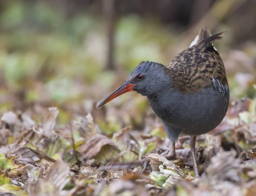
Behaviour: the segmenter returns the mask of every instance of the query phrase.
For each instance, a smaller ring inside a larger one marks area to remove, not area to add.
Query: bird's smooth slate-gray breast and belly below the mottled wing
[[[168,126],[189,134],[201,135],[221,123],[227,112],[228,86],[215,80],[215,85],[194,94],[166,90],[150,100],[154,112]]]

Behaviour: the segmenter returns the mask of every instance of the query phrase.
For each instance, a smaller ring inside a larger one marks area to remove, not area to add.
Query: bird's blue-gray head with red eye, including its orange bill
[[[134,68],[124,84],[116,89],[111,95],[106,97],[98,107],[111,101],[113,98],[129,91],[136,91],[143,96],[152,96],[157,94],[166,85],[170,84],[166,66],[160,63],[142,61]]]

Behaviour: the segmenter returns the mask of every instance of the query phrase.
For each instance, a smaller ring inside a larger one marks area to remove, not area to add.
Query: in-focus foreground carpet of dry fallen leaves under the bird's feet
[[[197,139],[195,179],[189,137],[177,158],[163,156],[163,127],[125,127],[105,135],[89,113],[58,128],[57,108],[36,123],[25,113],[0,120],[0,192],[15,195],[246,195],[256,194],[256,99],[230,104],[215,130]],[[150,164],[147,166],[147,161]]]

